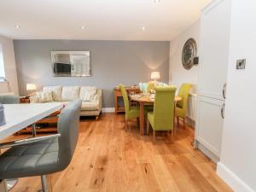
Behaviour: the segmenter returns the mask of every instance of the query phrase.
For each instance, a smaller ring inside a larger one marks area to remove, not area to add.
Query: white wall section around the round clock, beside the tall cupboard
[[[199,49],[200,20],[189,26],[188,29],[180,33],[176,38],[173,38],[170,43],[169,82],[170,84],[176,84],[177,87],[180,87],[183,83],[198,83],[198,67],[194,66],[190,70],[186,70],[182,64],[183,45],[189,38],[195,38],[197,48]]]

